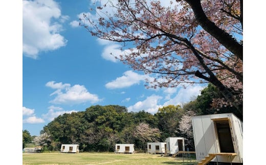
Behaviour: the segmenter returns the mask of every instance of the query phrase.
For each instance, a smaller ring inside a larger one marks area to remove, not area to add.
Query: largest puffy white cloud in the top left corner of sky
[[[52,51],[66,45],[59,34],[68,16],[61,15],[60,7],[53,0],[23,1],[23,53],[36,59],[40,51]]]

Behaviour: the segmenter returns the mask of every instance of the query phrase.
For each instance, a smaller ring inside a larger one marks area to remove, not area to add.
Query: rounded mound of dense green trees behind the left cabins
[[[85,111],[59,115],[43,128],[43,132],[50,132],[53,139],[51,144],[57,147],[78,143],[82,151],[114,151],[117,143],[139,143],[136,147],[143,148],[143,138],[136,134],[140,131],[140,123],[157,130],[158,119],[144,110],[127,112],[124,106],[96,105]],[[150,136],[154,140],[155,136]],[[160,138],[158,134],[156,137]]]

